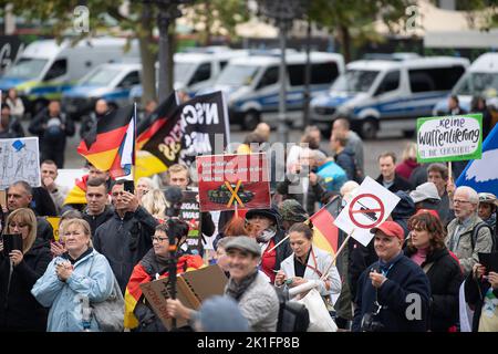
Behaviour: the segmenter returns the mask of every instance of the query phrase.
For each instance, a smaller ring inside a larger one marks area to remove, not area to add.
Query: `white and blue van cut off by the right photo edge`
[[[464,76],[453,87],[452,95],[458,96],[459,105],[469,112],[474,96],[483,96],[498,107],[498,53],[485,53],[477,58]],[[437,102],[434,115],[448,112],[448,97]]]

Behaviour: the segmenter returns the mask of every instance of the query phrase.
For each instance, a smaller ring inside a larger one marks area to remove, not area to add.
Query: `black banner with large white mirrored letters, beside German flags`
[[[190,166],[196,156],[221,152],[229,143],[228,111],[221,92],[196,96],[179,105],[142,147],[166,167]],[[216,144],[219,139],[218,144]]]

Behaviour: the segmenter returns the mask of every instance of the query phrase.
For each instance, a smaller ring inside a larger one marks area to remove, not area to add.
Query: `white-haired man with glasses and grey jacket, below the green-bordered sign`
[[[491,252],[491,232],[489,228],[481,227],[477,236],[474,236],[474,229],[483,220],[477,216],[479,196],[473,188],[458,187],[453,197],[453,205],[456,218],[448,225],[446,246],[458,258],[466,277],[473,270],[474,264],[479,261],[479,252]]]

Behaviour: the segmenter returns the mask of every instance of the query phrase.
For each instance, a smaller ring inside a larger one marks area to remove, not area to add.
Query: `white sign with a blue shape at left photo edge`
[[[18,180],[40,187],[38,137],[0,139],[0,189]]]

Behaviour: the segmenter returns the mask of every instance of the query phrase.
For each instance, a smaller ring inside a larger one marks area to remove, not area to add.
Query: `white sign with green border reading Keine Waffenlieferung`
[[[483,114],[417,119],[417,162],[479,159],[483,155]]]

